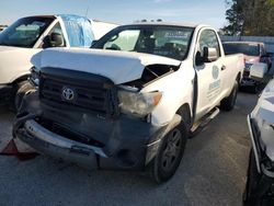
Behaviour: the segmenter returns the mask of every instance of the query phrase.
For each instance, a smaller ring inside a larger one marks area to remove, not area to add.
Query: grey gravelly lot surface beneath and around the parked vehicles
[[[190,139],[174,178],[156,185],[139,173],[88,171],[48,157],[0,157],[0,205],[241,205],[250,149],[247,114],[258,96],[239,93]],[[11,138],[13,115],[0,112],[0,148]]]

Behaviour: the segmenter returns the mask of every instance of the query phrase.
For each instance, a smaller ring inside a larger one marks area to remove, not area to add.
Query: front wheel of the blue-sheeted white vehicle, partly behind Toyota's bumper
[[[18,84],[18,91],[14,96],[14,110],[18,112],[20,110],[21,103],[24,95],[33,90],[34,87],[28,81],[22,81]]]

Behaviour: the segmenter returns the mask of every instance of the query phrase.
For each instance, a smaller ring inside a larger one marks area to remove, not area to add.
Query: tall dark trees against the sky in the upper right
[[[274,0],[226,0],[225,35],[274,36]]]

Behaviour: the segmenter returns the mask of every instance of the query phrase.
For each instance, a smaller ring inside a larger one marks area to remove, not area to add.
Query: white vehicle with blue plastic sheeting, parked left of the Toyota
[[[92,41],[114,27],[70,14],[18,20],[0,34],[0,101],[13,100],[20,88],[27,87],[24,83],[32,68],[31,58],[43,48],[90,47]]]

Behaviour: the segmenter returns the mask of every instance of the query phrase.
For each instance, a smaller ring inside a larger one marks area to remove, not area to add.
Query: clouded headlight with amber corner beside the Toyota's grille
[[[125,114],[144,117],[151,113],[159,104],[162,92],[139,93],[133,91],[118,91],[119,107]]]

